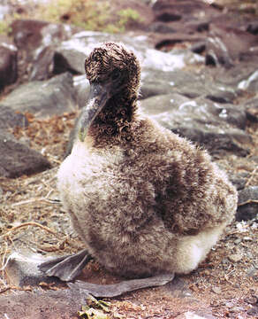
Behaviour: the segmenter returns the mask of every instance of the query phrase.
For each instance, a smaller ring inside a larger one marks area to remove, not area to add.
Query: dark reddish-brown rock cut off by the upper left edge
[[[17,48],[11,40],[0,36],[0,90],[17,80]]]

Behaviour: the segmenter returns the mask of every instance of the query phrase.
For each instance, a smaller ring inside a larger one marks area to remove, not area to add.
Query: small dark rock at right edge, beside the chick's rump
[[[237,221],[248,221],[258,214],[258,186],[249,186],[239,191]]]

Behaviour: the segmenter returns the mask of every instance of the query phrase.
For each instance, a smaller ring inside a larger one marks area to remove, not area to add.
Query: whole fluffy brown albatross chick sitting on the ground
[[[231,222],[237,191],[207,152],[138,112],[132,51],[104,43],[85,67],[89,102],[57,180],[86,250],[42,270],[72,280],[88,252],[112,273],[145,278],[137,288],[191,272]]]

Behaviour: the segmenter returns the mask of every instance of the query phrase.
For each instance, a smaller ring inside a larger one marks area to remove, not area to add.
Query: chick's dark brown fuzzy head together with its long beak
[[[80,140],[109,101],[122,101],[130,105],[138,97],[140,87],[140,64],[133,51],[120,43],[104,43],[90,53],[85,61],[87,80],[90,83],[89,102],[80,117]],[[121,104],[121,103],[120,103]],[[110,104],[111,105],[111,104]],[[118,113],[116,103],[109,112]],[[130,110],[123,111],[130,113]],[[128,114],[127,114],[128,115]],[[118,114],[114,118],[118,118]]]

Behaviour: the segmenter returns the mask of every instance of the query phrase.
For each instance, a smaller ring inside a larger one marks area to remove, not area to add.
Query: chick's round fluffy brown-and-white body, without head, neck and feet
[[[126,138],[102,143],[97,128],[74,143],[57,176],[88,252],[126,277],[197,268],[236,210],[227,176],[207,152],[137,112]]]

